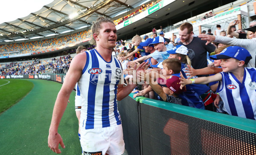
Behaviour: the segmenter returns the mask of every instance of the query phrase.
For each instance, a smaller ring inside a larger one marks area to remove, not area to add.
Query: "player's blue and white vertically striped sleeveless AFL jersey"
[[[95,49],[86,51],[86,56],[78,82],[82,96],[80,127],[94,129],[119,125],[116,94],[122,65],[113,56],[106,62]]]

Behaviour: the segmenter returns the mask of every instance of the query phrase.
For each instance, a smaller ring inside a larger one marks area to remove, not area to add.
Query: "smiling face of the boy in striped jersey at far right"
[[[238,68],[239,61],[234,58],[221,59],[221,68],[224,72],[233,72]]]

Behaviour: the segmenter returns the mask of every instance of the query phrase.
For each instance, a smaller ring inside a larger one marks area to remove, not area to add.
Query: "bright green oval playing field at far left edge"
[[[33,87],[33,83],[26,80],[0,79],[0,114],[20,101]]]

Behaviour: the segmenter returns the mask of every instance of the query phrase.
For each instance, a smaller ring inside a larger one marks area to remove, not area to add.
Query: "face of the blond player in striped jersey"
[[[97,46],[112,49],[116,45],[116,27],[113,23],[101,23],[101,29],[96,37]]]

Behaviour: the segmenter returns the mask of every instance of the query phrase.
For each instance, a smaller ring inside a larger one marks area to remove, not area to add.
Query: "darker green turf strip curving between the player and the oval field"
[[[22,81],[32,82],[34,88],[17,104],[0,115],[0,154],[55,155],[48,148],[47,138],[52,110],[61,84],[37,79]],[[15,85],[9,84],[5,86],[17,90]],[[58,130],[66,146],[65,149],[62,149],[59,145],[63,155],[81,155],[74,100],[75,92],[72,92],[70,103]]]

